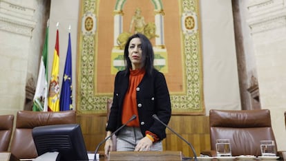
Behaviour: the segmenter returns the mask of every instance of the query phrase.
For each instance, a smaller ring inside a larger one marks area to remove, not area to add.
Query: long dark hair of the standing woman
[[[143,67],[146,71],[146,74],[151,74],[154,68],[154,51],[153,51],[153,46],[149,39],[144,35],[144,34],[133,34],[128,38],[126,41],[126,45],[124,48],[124,60],[126,62],[126,73],[129,72],[129,69],[132,68],[131,61],[128,57],[128,47],[130,44],[130,41],[134,38],[139,38],[141,41],[141,47],[142,47],[142,60],[143,60]]]

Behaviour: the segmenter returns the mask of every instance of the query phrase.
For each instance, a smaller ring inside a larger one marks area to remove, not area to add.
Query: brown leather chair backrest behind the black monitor
[[[37,158],[32,129],[44,125],[75,124],[75,111],[18,111],[10,151],[19,159]]]

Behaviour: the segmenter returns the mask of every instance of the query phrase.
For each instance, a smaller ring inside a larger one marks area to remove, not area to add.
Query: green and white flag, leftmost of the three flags
[[[39,75],[37,87],[34,96],[32,111],[48,111],[48,26],[46,29],[46,37],[44,48],[41,52],[41,63],[39,66]]]

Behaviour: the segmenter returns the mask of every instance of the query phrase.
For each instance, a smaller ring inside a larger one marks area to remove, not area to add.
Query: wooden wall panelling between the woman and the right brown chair
[[[190,142],[197,155],[200,155],[200,151],[211,149],[208,116],[172,116],[168,126]],[[184,156],[193,156],[191,147],[186,142],[169,129],[166,129],[166,133],[166,150],[182,151]]]

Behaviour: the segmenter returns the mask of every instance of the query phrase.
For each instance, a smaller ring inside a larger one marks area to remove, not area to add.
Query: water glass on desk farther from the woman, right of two
[[[260,140],[260,150],[263,156],[276,156],[274,140]]]

